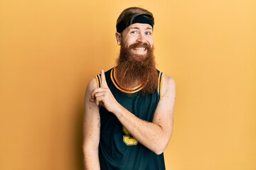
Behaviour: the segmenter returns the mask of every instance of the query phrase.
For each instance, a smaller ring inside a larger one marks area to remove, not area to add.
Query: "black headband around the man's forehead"
[[[134,23],[147,23],[152,28],[154,28],[153,18],[151,18],[151,16],[149,16],[149,15],[142,14],[142,15],[136,16],[133,20],[132,20],[132,18],[130,18],[129,21],[127,21],[127,22],[121,21],[120,23],[118,23],[117,24],[117,33],[122,33],[122,31],[125,28],[131,26]]]

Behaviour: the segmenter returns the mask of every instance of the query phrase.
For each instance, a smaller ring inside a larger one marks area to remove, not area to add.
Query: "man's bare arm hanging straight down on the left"
[[[83,154],[85,169],[100,169],[98,147],[100,142],[99,107],[90,102],[90,94],[97,87],[95,79],[87,86],[85,93],[85,113],[83,120]]]

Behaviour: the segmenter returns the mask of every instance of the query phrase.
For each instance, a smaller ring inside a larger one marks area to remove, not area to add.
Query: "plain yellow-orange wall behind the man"
[[[129,6],[156,18],[177,86],[166,169],[256,169],[255,0],[1,0],[0,169],[82,169],[83,96]]]

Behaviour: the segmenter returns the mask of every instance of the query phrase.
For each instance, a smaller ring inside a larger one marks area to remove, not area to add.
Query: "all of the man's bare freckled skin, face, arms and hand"
[[[134,42],[145,42],[153,45],[152,35],[145,34],[151,26],[136,23],[125,29],[122,33],[116,33],[117,42],[131,45]],[[134,26],[136,26],[134,28]],[[134,30],[129,30],[132,28]],[[143,50],[133,50],[134,53],[143,53]],[[145,51],[144,51],[145,52]],[[156,154],[161,154],[166,149],[173,130],[174,101],[176,96],[175,82],[166,74],[163,75],[163,95],[154,113],[151,123],[137,118],[133,113],[122,107],[112,95],[105,80],[105,73],[101,72],[102,87],[97,88],[97,82],[92,79],[85,93],[85,118],[84,118],[84,142],[83,152],[85,157],[85,169],[100,169],[98,147],[100,142],[100,111],[102,104],[107,111],[113,113],[119,122],[127,128],[133,137],[144,147]]]

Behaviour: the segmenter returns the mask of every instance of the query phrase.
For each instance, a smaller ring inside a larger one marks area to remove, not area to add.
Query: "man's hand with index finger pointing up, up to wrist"
[[[105,79],[105,72],[101,70],[101,87],[95,88],[92,91],[90,101],[95,102],[97,106],[104,106],[107,111],[114,112],[118,104],[113,94],[110,91],[110,88],[107,86],[107,81]]]

